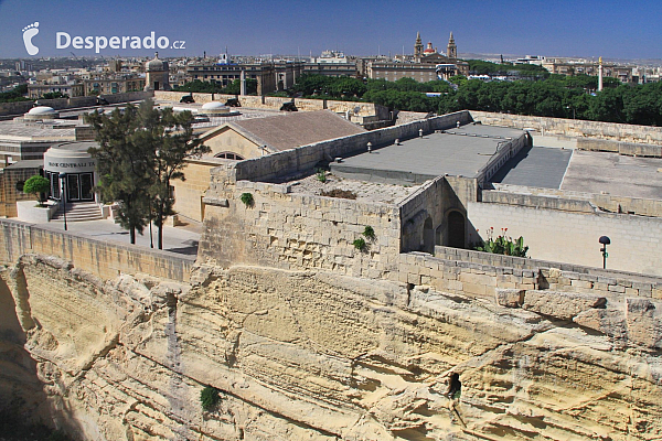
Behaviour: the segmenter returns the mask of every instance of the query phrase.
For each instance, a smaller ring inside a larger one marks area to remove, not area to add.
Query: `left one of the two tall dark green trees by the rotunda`
[[[97,160],[97,190],[104,202],[118,203],[119,224],[129,230],[131,244],[136,244],[136,230],[142,234],[150,215],[150,155],[148,146],[136,142],[136,133],[141,131],[137,114],[129,105],[109,117],[97,111],[87,117],[99,142],[98,148],[89,149]]]

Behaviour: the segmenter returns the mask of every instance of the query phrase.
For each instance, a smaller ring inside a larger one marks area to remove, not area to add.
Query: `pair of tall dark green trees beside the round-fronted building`
[[[98,148],[89,149],[97,159],[103,202],[118,202],[119,223],[136,243],[149,222],[158,228],[158,247],[163,248],[163,224],[174,214],[171,182],[184,180],[185,160],[210,151],[193,133],[193,115],[159,110],[151,100],[139,107],[128,105],[107,115],[87,117]]]

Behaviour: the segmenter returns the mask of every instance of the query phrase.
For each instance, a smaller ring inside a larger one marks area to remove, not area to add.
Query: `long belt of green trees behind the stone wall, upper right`
[[[605,78],[605,89],[596,93],[598,78],[588,75],[551,75],[541,66],[469,61],[476,74],[519,74],[514,82],[482,82],[452,77],[450,83],[417,83],[302,75],[287,92],[290,96],[376,103],[392,110],[436,112],[469,109],[594,121],[662,126],[662,83],[624,85]],[[437,93],[428,97],[424,93]]]

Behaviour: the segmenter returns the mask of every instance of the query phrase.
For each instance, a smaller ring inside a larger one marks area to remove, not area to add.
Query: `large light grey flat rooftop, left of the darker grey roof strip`
[[[444,174],[476,176],[496,152],[500,142],[516,139],[524,132],[504,127],[466,125],[445,133],[405,140],[332,163],[331,170],[345,176],[375,180],[399,179],[421,182]],[[409,176],[409,179],[407,179]]]

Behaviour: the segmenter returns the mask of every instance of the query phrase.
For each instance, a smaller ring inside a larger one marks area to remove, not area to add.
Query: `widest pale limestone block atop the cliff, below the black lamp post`
[[[560,320],[572,320],[591,308],[602,308],[607,303],[604,297],[557,291],[530,290],[524,294],[522,308]]]

